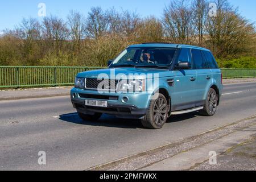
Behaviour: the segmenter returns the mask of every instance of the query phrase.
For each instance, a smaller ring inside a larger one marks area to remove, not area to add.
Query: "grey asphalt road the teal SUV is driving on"
[[[225,85],[223,93],[213,117],[177,115],[160,130],[109,115],[84,123],[67,96],[0,101],[0,170],[84,170],[256,114],[256,82]]]

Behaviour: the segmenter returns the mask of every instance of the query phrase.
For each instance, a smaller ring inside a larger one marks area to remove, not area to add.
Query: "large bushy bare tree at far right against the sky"
[[[228,1],[217,0],[217,16],[209,17],[207,31],[210,48],[217,57],[249,51],[255,36],[253,24],[243,18]]]

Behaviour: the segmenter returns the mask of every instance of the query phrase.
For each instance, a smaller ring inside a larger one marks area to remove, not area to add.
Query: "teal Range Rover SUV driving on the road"
[[[105,113],[139,119],[146,128],[160,129],[171,115],[216,113],[222,75],[208,49],[137,44],[108,64],[108,69],[76,77],[71,101],[84,121],[97,121]]]

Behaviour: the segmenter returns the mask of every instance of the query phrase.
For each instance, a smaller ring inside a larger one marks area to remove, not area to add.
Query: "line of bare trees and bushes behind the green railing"
[[[254,24],[227,0],[214,2],[212,16],[208,0],[176,0],[161,18],[92,7],[87,15],[70,11],[65,20],[23,19],[3,31],[0,65],[106,66],[130,44],[168,42],[209,48],[221,67],[256,68]]]

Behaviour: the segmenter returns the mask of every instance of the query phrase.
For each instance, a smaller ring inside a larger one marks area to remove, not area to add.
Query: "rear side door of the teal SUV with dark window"
[[[204,104],[205,93],[212,82],[212,71],[209,69],[200,49],[192,49],[192,59],[196,68],[196,106]]]

